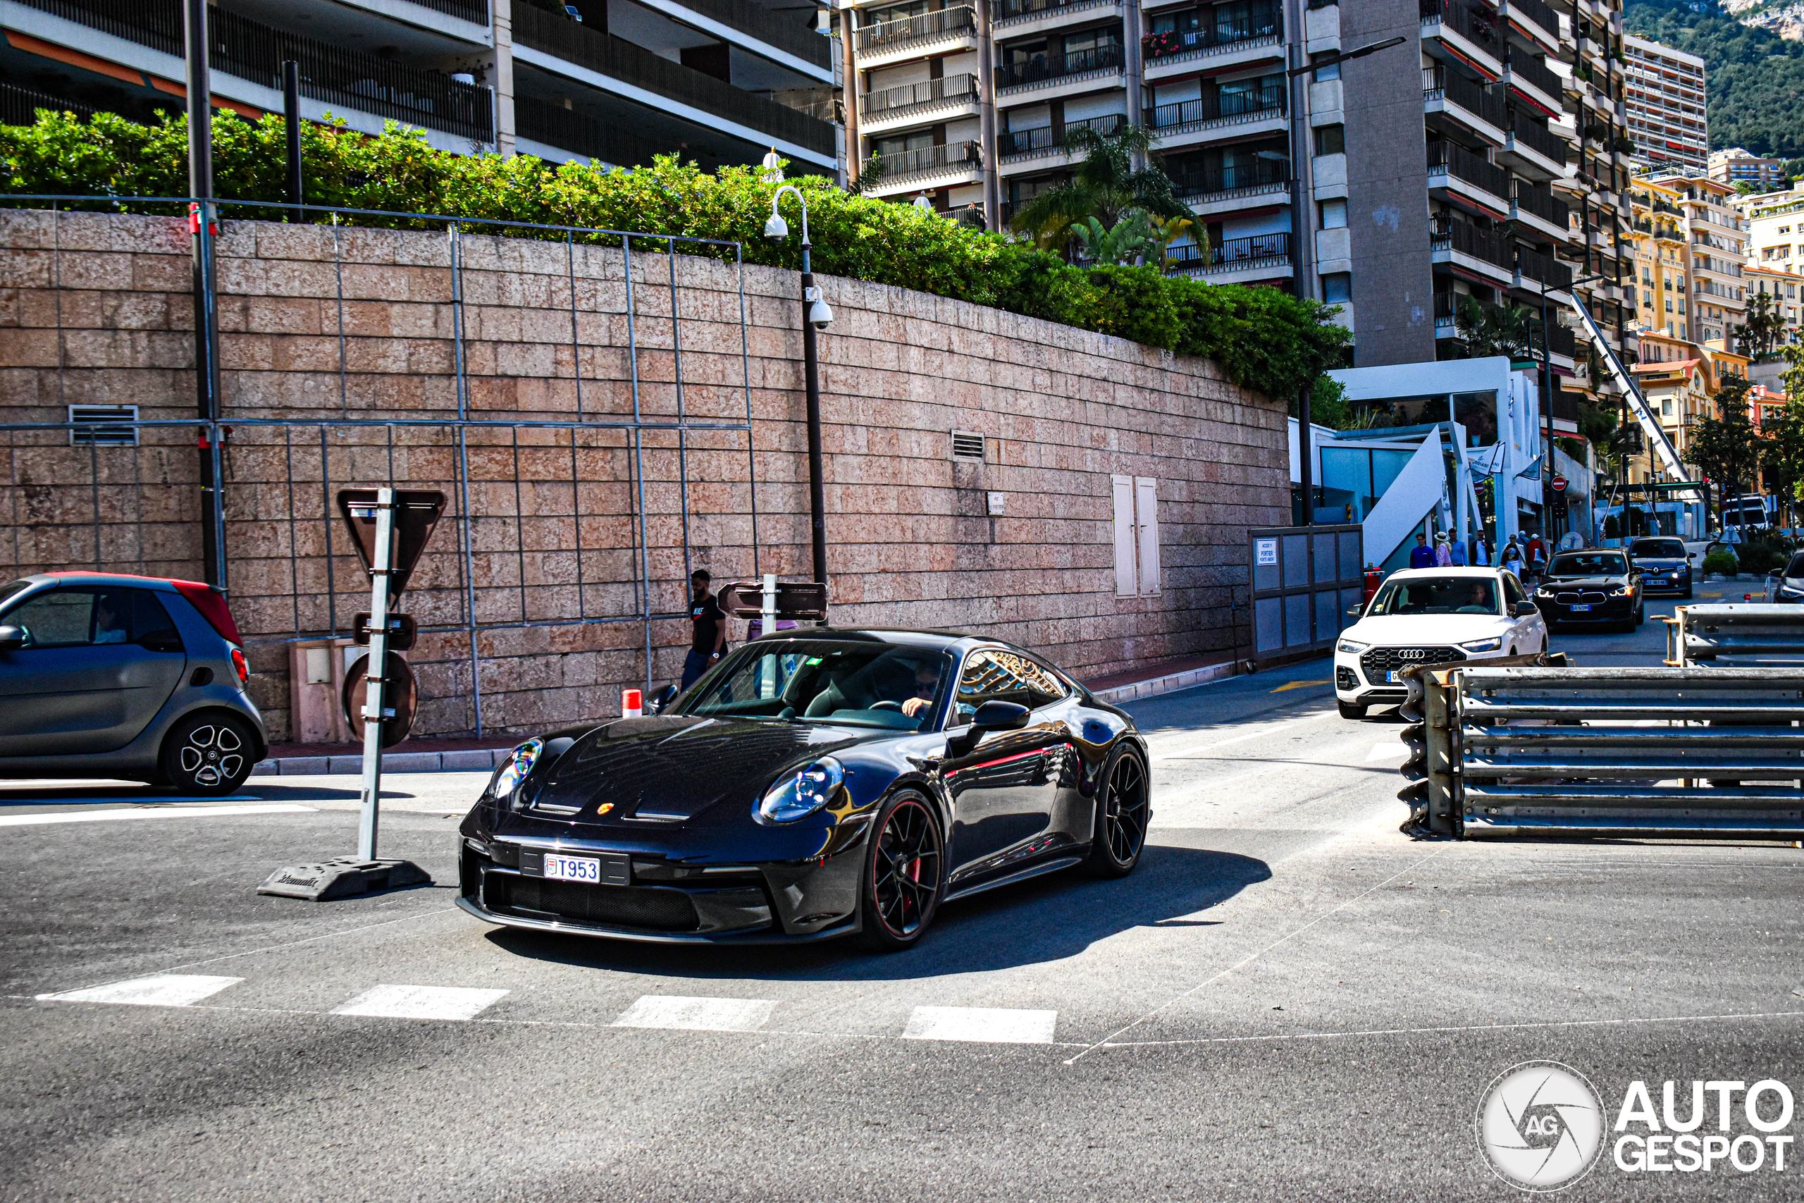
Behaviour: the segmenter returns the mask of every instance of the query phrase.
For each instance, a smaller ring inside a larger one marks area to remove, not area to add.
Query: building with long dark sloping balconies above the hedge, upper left
[[[180,108],[182,0],[0,0],[5,119],[34,105]],[[354,130],[400,121],[442,150],[713,168],[767,150],[833,173],[837,60],[814,0],[222,0],[213,99]]]

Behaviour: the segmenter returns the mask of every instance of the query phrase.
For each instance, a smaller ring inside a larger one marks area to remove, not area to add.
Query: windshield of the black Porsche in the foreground
[[[951,675],[951,657],[936,647],[758,640],[696,682],[671,712],[929,730]]]

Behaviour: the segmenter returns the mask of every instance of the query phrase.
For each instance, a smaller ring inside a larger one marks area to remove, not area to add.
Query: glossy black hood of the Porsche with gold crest
[[[895,734],[682,714],[622,718],[570,745],[547,770],[532,806],[574,808],[570,819],[584,822],[725,822],[747,817],[785,770]],[[595,813],[601,804],[604,815]]]

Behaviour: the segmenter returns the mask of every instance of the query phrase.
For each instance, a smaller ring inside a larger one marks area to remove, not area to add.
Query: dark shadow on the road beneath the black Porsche
[[[810,945],[648,945],[494,929],[489,941],[516,956],[613,972],[696,979],[897,981],[1016,969],[1075,956],[1133,927],[1209,925],[1192,918],[1272,877],[1254,857],[1147,846],[1120,880],[1075,871],[951,902],[907,952],[880,956],[855,938]]]

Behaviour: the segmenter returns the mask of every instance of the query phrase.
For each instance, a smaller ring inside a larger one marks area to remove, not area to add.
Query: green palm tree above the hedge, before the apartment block
[[[1146,130],[1122,126],[1115,133],[1100,133],[1077,126],[1066,130],[1064,144],[1082,152],[1084,161],[1068,182],[1021,206],[1012,222],[1016,233],[1030,234],[1046,249],[1064,251],[1075,238],[1072,227],[1088,224],[1088,218],[1113,229],[1133,211],[1149,218],[1191,216],[1173,195],[1171,177],[1153,155],[1153,135]]]

